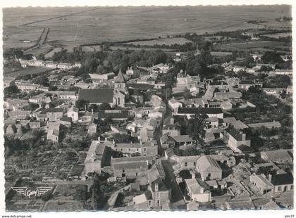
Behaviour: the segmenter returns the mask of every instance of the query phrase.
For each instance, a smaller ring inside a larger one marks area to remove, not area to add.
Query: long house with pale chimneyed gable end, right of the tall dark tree
[[[242,153],[240,146],[251,146],[251,141],[246,139],[246,134],[240,132],[238,129],[228,128],[220,132],[220,137],[228,146],[235,152]]]

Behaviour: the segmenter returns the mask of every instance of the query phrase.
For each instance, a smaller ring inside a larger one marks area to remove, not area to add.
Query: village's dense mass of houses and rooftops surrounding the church
[[[63,68],[63,63],[39,60],[20,62],[66,70],[79,67],[65,64]],[[256,108],[242,99],[241,90],[262,89],[262,82],[221,75],[202,80],[180,71],[172,97],[167,98],[165,81],[159,75],[169,68],[160,64],[148,70],[128,68],[125,74],[121,70],[118,75],[90,74],[91,83],[74,76],[49,77],[49,82],[66,91],[49,91],[30,81],[6,78],[4,84],[14,82],[29,94],[28,98],[5,100],[6,136],[23,140],[30,138],[30,130],[42,129],[44,140],[58,144],[65,143],[65,128],[82,126],[82,132],[97,139],[87,148],[79,178],[87,181],[94,173],[107,173],[109,186],[123,181],[125,186],[106,203],[113,210],[288,206],[278,196],[293,190],[292,151],[255,153],[246,131],[281,128],[280,122],[244,123],[230,113],[233,108]],[[72,86],[79,90],[69,91]],[[39,93],[30,96],[32,91]],[[76,108],[78,101],[85,105]],[[32,103],[37,108],[30,108]],[[206,117],[205,134],[197,140],[187,133],[183,122],[199,115]],[[109,122],[111,130],[99,132],[102,124],[97,120]],[[132,140],[118,142],[118,135]],[[119,193],[124,203],[116,207]]]

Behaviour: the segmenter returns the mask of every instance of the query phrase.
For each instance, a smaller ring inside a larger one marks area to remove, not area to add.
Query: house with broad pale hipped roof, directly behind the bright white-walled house
[[[196,168],[203,181],[222,179],[221,167],[216,160],[209,156],[200,156],[200,158],[197,159]]]

